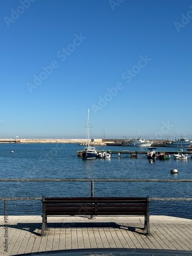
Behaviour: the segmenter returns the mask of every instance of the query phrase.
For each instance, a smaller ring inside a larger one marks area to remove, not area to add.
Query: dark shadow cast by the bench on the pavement
[[[4,225],[0,225],[0,227],[4,227]],[[10,224],[8,225],[8,228],[15,228],[20,229],[24,231],[28,231],[32,234],[35,234],[35,236],[40,236],[41,232],[41,223],[17,223],[17,224]],[[114,228],[114,229],[124,229],[127,231],[135,232],[138,234],[145,234],[144,231],[142,231],[144,228],[139,226],[129,226],[124,224],[117,224],[115,222],[65,222],[65,223],[48,223],[48,230],[49,229],[68,229],[68,228]],[[139,229],[139,230],[138,230]],[[46,230],[46,233],[47,231]],[[140,231],[141,230],[141,231]]]

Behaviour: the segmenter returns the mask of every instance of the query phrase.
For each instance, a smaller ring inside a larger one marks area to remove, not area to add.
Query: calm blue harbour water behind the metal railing
[[[155,161],[145,155],[112,155],[111,159],[82,160],[77,144],[0,144],[0,178],[18,179],[192,179],[192,160]],[[98,146],[102,150],[104,147]],[[105,150],[135,150],[133,147],[106,146]],[[137,148],[139,151],[147,148]],[[164,148],[159,148],[163,151]],[[177,148],[166,148],[177,151]],[[14,153],[11,153],[14,151]],[[178,169],[178,174],[170,174]],[[0,197],[90,196],[90,182],[1,182]],[[95,182],[95,196],[190,197],[192,183]],[[39,201],[9,201],[9,215],[41,215]],[[0,202],[0,215],[4,215]],[[151,215],[192,219],[190,202],[151,202]]]

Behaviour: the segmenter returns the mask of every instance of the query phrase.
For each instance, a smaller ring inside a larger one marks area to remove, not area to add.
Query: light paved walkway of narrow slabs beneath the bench
[[[192,251],[192,220],[151,216],[150,236],[143,223],[143,217],[48,217],[47,234],[41,237],[40,216],[9,216],[8,228],[0,216],[0,255],[84,248]]]

